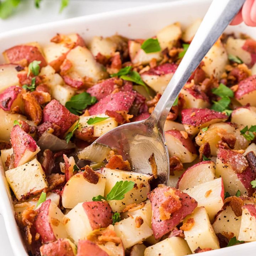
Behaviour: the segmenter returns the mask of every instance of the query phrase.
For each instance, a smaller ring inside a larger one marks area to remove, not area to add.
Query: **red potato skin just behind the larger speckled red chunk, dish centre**
[[[118,85],[119,83],[123,84],[123,86],[120,87]],[[117,77],[109,78],[90,87],[86,92],[88,92],[91,96],[96,97],[97,100],[101,100],[102,98],[111,94],[111,92],[116,88],[119,88],[121,91],[132,91],[132,82],[124,81]]]

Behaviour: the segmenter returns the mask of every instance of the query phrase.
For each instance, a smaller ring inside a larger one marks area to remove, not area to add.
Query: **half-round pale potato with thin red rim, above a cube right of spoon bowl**
[[[213,181],[215,178],[215,164],[213,161],[203,161],[185,171],[179,184],[179,190],[185,190],[202,184],[204,182]]]

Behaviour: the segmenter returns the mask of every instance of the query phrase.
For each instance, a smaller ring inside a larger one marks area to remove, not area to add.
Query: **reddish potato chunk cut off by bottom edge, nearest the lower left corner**
[[[40,247],[41,255],[46,256],[75,256],[69,239],[60,238],[55,242],[49,242]],[[75,245],[73,245],[75,247]]]

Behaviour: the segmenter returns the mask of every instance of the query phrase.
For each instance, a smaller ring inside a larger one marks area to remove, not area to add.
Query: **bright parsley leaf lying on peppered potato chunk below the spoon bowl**
[[[134,186],[133,181],[118,181],[107,194],[107,200],[122,200],[124,194],[130,191]]]

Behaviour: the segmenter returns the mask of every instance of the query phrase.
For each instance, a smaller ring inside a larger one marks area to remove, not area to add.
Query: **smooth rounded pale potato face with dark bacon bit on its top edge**
[[[82,172],[72,176],[65,184],[62,193],[62,205],[64,208],[74,208],[78,203],[90,202],[93,197],[103,195],[106,178],[99,175],[97,184],[85,180]]]

